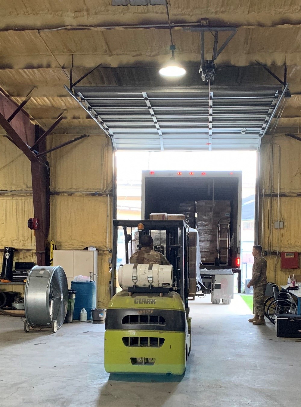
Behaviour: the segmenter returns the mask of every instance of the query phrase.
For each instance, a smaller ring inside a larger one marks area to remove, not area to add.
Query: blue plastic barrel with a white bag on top
[[[71,281],[71,290],[76,290],[73,319],[80,320],[80,311],[87,311],[87,319],[92,319],[92,308],[96,308],[96,282]]]

